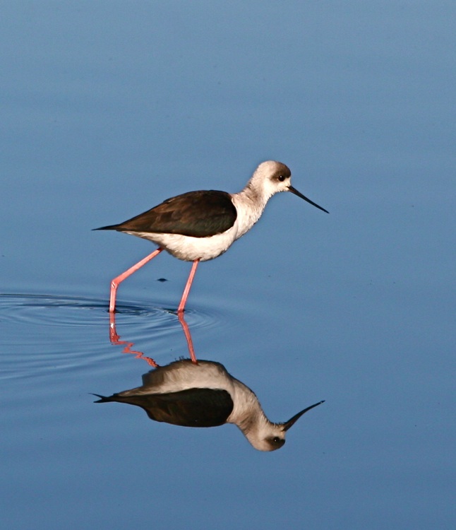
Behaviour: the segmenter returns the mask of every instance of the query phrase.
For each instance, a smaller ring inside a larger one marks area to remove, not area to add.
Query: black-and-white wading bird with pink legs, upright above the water
[[[291,178],[292,172],[287,165],[267,160],[258,165],[246,187],[239,193],[230,194],[213,189],[187,192],[118,225],[94,228],[136,235],[158,245],[154,252],[112,280],[109,312],[115,311],[119,284],[163,250],[183,261],[193,261],[177,309],[178,313],[184,312],[199,262],[214,259],[226,252],[234,241],[253,227],[268,200],[276,193],[292,192],[329,213],[298,192],[292,186]]]

